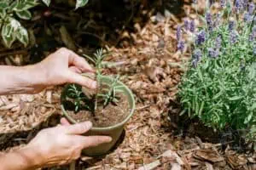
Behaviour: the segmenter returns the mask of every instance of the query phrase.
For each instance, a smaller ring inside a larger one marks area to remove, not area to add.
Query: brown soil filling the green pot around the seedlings
[[[67,109],[65,105],[64,107],[67,109],[67,114],[76,122],[90,121],[94,127],[110,127],[122,122],[130,114],[128,98],[121,93],[117,95],[119,96],[118,103],[109,103],[106,107],[98,105],[95,112],[86,110],[75,112],[72,109]]]

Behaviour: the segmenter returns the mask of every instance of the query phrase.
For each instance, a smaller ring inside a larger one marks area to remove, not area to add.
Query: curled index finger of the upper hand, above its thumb
[[[69,50],[68,63],[69,65],[74,65],[79,67],[84,72],[86,71],[95,72],[84,58],[80,57],[78,54],[75,54],[71,50]]]

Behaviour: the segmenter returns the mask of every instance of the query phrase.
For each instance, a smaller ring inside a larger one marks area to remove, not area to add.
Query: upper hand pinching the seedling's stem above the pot
[[[95,72],[86,60],[67,48],[60,48],[54,54],[36,65],[33,71],[41,76],[33,86],[32,93],[38,93],[48,86],[60,85],[66,82],[77,83],[87,88],[96,88],[96,82],[80,73]]]

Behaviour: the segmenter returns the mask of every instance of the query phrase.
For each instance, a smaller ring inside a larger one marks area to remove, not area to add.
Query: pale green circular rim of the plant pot
[[[82,74],[83,76],[83,74]],[[113,79],[112,77],[106,77],[106,76],[102,76],[103,78],[108,78],[108,79]],[[114,129],[114,128],[117,128],[117,127],[120,127],[120,126],[123,126],[126,122],[128,122],[128,120],[131,118],[131,116],[133,115],[134,111],[135,111],[135,99],[134,99],[134,95],[132,94],[131,92],[131,89],[128,88],[123,82],[120,82],[118,81],[122,86],[123,88],[125,88],[125,90],[127,90],[128,92],[128,96],[129,98],[131,98],[131,110],[130,110],[130,114],[128,116],[125,117],[125,119],[122,121],[122,122],[119,122],[113,126],[109,126],[109,127],[91,127],[90,130],[93,130],[93,131],[102,131],[102,130],[111,130],[111,129]],[[62,92],[65,90],[66,88],[64,88],[62,90]],[[61,93],[61,96],[62,96],[63,93]],[[61,97],[62,98],[62,97]],[[67,120],[69,122],[72,122],[73,124],[75,123],[78,123],[76,122],[71,116],[68,115],[67,111],[65,110],[64,106],[61,104],[61,111],[62,111],[62,115],[64,115]]]

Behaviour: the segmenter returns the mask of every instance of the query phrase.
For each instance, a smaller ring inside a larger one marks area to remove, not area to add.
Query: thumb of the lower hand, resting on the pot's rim
[[[81,122],[74,125],[66,126],[65,131],[67,134],[83,134],[89,131],[91,127],[91,122]]]

